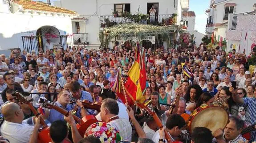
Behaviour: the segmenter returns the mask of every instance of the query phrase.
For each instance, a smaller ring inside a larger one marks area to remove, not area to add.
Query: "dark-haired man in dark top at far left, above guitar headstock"
[[[14,81],[13,70],[12,71],[8,71],[7,73],[4,74],[4,81],[7,84],[7,87],[1,93],[2,100],[4,102],[7,101],[6,91],[8,89],[14,89],[15,91],[17,90],[18,92],[22,92],[23,91],[23,89],[20,86],[16,85],[16,83]]]

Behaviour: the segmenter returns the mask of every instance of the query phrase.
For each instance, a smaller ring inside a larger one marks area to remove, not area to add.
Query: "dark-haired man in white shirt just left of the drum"
[[[166,122],[166,130],[171,137],[171,141],[174,142],[175,139],[181,134],[182,128],[186,125],[185,120],[178,114],[173,114],[168,117]],[[167,143],[167,140],[165,139],[165,136],[160,136],[159,131],[156,131],[152,140],[154,143],[159,143],[161,140],[165,140],[165,143]]]

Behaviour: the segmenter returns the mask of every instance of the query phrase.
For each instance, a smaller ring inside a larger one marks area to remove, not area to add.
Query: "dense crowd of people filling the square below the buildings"
[[[256,123],[256,74],[248,71],[246,63],[256,55],[256,50],[250,55],[235,49],[226,52],[219,46],[207,50],[203,43],[191,48],[147,49],[145,101],[150,101],[150,108],[165,125],[162,129],[144,110],[123,103],[111,89],[118,69],[122,69],[123,75],[128,74],[136,60],[135,52],[135,47],[89,50],[78,45],[65,49],[53,46],[53,49],[31,53],[17,49],[12,50],[9,57],[2,54],[0,113],[4,120],[0,124],[0,142],[37,143],[41,118],[50,126],[52,143],[106,142],[101,138],[102,132],[80,135],[74,114],[79,118],[94,115],[98,121],[106,122],[120,134],[120,143],[166,143],[165,131],[171,141],[184,143],[246,143],[241,132],[245,126]],[[192,76],[184,73],[184,67]],[[33,108],[41,115],[35,115],[28,104],[20,102],[15,92],[28,94],[33,99]],[[177,97],[179,103],[171,106]],[[186,131],[187,120],[181,115],[190,115],[219,98],[226,99],[223,103],[229,114],[226,127],[216,131],[204,127]],[[69,116],[55,109],[41,109],[42,99],[69,111]],[[85,100],[101,103],[100,112],[84,107]],[[171,108],[175,108],[175,112],[171,113]],[[251,131],[248,140],[256,141],[256,131]]]

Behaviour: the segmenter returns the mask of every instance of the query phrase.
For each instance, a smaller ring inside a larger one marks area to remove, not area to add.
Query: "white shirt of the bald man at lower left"
[[[1,136],[10,143],[28,143],[34,127],[28,124],[17,124],[4,121],[0,128]]]

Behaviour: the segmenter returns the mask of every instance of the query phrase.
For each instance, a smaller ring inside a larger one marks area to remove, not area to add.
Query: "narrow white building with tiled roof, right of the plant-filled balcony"
[[[186,30],[190,35],[194,35],[195,43],[197,46],[202,43],[203,33],[195,31],[195,12],[183,12],[182,13],[183,25],[185,25]]]

